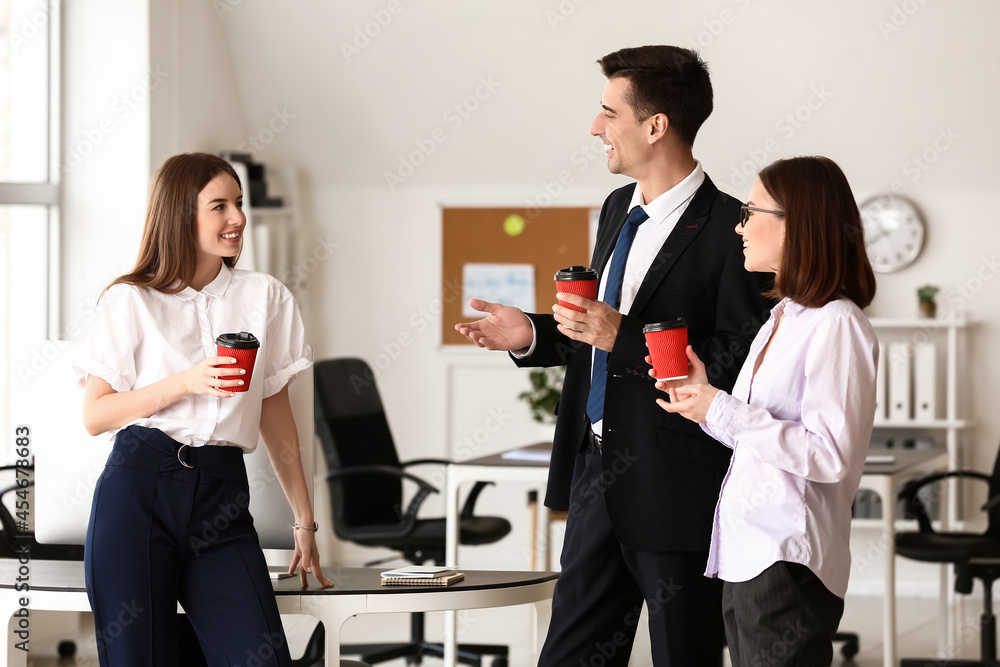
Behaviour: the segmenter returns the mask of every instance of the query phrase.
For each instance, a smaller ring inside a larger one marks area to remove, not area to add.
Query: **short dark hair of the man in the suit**
[[[639,118],[664,114],[678,136],[694,145],[712,115],[712,80],[697,53],[679,46],[637,46],[597,61],[604,76],[629,81],[628,102]]]

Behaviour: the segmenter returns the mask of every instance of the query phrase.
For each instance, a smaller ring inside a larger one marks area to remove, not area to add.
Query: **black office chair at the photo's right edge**
[[[981,508],[988,512],[985,533],[939,533],[934,530],[925,507],[921,490],[941,480],[983,480],[989,485],[989,500]],[[919,495],[918,495],[919,494]],[[906,558],[929,563],[952,563],[955,566],[955,591],[968,595],[973,579],[983,582],[983,613],[981,616],[981,656],[979,660],[938,660],[936,667],[1000,667],[997,662],[996,617],[993,616],[993,582],[1000,577],[1000,454],[993,465],[993,475],[972,470],[952,470],[932,473],[911,480],[899,492],[906,503],[906,516],[915,518],[917,532],[896,535],[896,553]],[[900,667],[924,667],[927,658],[904,659]]]

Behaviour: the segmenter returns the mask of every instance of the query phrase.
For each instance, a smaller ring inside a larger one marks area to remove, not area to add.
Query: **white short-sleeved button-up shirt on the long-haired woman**
[[[193,447],[230,445],[251,452],[260,433],[261,401],[312,365],[295,299],[272,276],[223,265],[200,292],[114,285],[98,303],[74,366],[81,385],[94,375],[117,392],[130,391],[218,356],[216,337],[241,331],[260,341],[248,391],[229,398],[189,394],[126,426],[160,429]]]

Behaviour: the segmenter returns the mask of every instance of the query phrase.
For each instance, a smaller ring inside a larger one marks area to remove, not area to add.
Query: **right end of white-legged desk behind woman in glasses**
[[[869,454],[891,455],[893,463],[869,463],[861,476],[861,488],[882,499],[882,539],[885,545],[885,592],[882,595],[882,664],[896,665],[896,491],[922,474],[948,466],[944,449],[870,450]],[[942,496],[943,498],[944,496]],[[947,511],[942,509],[941,516]],[[942,601],[944,603],[944,601]],[[845,628],[850,630],[850,628]]]

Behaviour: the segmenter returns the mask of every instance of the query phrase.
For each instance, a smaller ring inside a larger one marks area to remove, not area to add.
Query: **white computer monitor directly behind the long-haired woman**
[[[70,368],[82,344],[45,341],[35,363],[11,377],[11,421],[31,429],[35,456],[32,513],[35,538],[43,544],[83,544],[97,478],[111,451],[107,435],[83,427],[82,392]],[[313,378],[301,373],[289,385],[309,496],[313,498]],[[250,512],[264,549],[292,549],[292,511],[263,442],[246,457]]]

